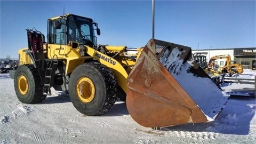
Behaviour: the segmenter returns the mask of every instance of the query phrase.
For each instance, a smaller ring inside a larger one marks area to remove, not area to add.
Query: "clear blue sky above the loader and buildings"
[[[74,13],[98,22],[99,44],[144,46],[152,37],[152,2],[0,1],[0,58],[18,58],[27,28],[46,35],[47,19]],[[255,47],[255,1],[155,1],[155,38],[192,49]]]

